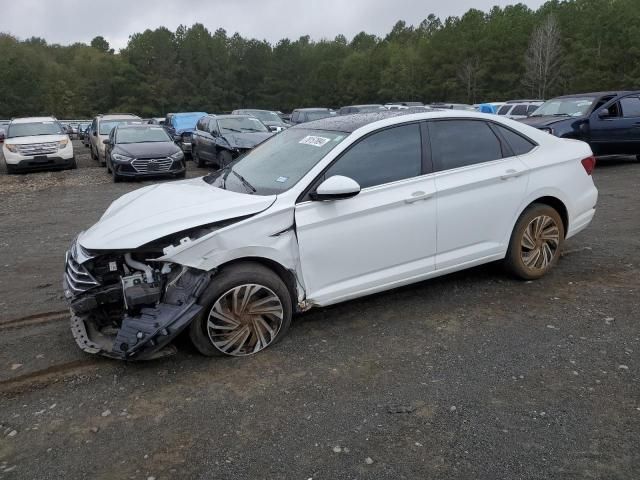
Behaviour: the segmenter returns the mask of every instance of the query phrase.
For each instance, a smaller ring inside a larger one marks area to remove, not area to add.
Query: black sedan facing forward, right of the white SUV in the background
[[[125,178],[184,178],[184,152],[161,125],[120,124],[104,140],[107,173],[114,182]]]

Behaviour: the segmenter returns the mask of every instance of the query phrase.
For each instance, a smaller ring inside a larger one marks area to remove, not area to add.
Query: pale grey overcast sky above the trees
[[[542,0],[520,0],[538,8]],[[211,32],[266,39],[318,40],[342,33],[351,39],[366,31],[388,33],[398,20],[417,25],[430,13],[441,18],[462,15],[469,8],[488,11],[514,0],[0,0],[0,32],[49,43],[89,43],[97,35],[120,49],[129,35],[159,26],[203,23]]]

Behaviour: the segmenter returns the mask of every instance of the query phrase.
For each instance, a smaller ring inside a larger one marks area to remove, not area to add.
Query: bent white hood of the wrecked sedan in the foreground
[[[78,242],[88,250],[134,249],[189,228],[262,212],[275,199],[212,187],[202,177],[151,185],[114,201]]]

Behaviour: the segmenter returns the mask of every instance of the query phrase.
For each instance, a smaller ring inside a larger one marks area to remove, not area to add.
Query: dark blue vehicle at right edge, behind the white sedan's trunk
[[[635,155],[640,161],[640,91],[565,95],[520,121],[587,142],[596,155]]]

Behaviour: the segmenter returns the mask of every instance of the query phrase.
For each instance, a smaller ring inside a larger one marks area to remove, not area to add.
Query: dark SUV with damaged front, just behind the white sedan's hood
[[[193,161],[224,168],[273,134],[253,115],[207,115],[193,132]]]

